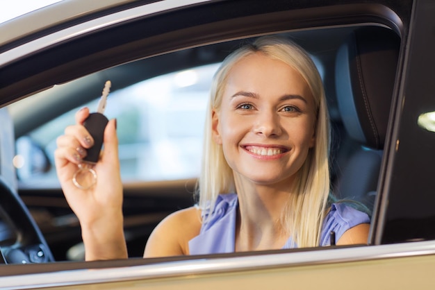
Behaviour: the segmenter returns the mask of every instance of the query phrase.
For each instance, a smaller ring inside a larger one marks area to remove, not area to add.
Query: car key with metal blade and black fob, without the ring
[[[106,81],[104,85],[101,98],[98,102],[97,112],[91,113],[87,119],[83,122],[83,126],[88,130],[92,138],[94,139],[94,145],[88,148],[88,155],[83,158],[84,162],[95,164],[98,162],[99,153],[103,146],[104,129],[108,123],[108,119],[104,116],[104,110],[106,109],[107,96],[110,91],[110,80]]]

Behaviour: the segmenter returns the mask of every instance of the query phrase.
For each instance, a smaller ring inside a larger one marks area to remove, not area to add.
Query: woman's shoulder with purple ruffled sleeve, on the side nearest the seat
[[[347,203],[333,203],[322,226],[322,246],[331,244],[329,233],[336,233],[337,245],[367,244],[370,217]]]

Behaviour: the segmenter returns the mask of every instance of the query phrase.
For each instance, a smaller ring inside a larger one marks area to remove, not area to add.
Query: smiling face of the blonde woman
[[[315,144],[315,105],[302,76],[255,53],[231,69],[213,138],[235,174],[261,185],[292,182]]]

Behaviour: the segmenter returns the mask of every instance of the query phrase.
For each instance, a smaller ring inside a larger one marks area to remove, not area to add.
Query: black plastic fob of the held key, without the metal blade
[[[108,119],[104,114],[92,113],[83,122],[83,126],[88,130],[92,138],[94,139],[94,146],[88,148],[88,155],[83,158],[83,161],[90,163],[97,163],[99,159],[99,153],[103,146],[104,129],[108,123]]]

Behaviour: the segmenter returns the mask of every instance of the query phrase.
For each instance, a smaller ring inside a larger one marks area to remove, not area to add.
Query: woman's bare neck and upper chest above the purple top
[[[286,190],[270,185],[256,185],[235,177],[238,194],[236,251],[282,248],[288,231],[282,228],[281,212],[286,207],[290,186]]]

